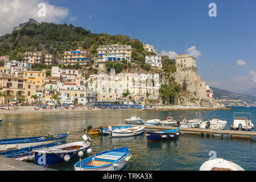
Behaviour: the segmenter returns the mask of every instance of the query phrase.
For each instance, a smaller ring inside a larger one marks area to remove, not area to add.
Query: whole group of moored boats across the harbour
[[[246,116],[245,116],[246,115]],[[184,117],[182,119],[182,117]],[[145,126],[176,126],[172,130],[152,130],[147,129],[145,137],[147,142],[174,140],[180,136],[180,127],[203,128],[213,130],[224,130],[226,121],[214,115],[210,121],[203,121],[200,113],[196,117],[188,119],[187,114],[181,115],[181,121],[176,121],[171,117],[166,120],[150,119],[145,121],[141,117],[132,115],[131,118],[125,119],[126,125],[115,126],[106,125],[92,127],[89,125],[82,135],[82,141],[65,143],[69,133],[43,135],[39,137],[0,139],[0,155],[6,158],[32,161],[39,166],[51,167],[59,164],[78,160],[74,165],[76,171],[97,171],[110,170],[118,171],[126,166],[131,158],[130,149],[125,146],[122,148],[113,148],[112,150],[102,151],[98,154],[81,159],[82,156],[92,152],[90,148],[90,137],[88,135],[109,135],[109,137],[133,137],[144,133]],[[250,113],[234,113],[234,123],[230,130],[253,130]],[[204,170],[243,170],[237,164],[228,162],[224,159],[214,159],[205,162],[201,167]]]

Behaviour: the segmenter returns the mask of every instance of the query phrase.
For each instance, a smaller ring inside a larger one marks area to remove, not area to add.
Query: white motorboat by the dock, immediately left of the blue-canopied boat
[[[201,129],[224,130],[226,123],[226,120],[220,120],[219,116],[214,115],[212,120],[201,122],[199,127]]]

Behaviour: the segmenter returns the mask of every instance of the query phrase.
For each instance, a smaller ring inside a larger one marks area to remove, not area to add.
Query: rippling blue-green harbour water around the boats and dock
[[[201,111],[204,121],[219,115],[226,119],[226,129],[233,123],[234,112],[251,113],[251,119],[256,126],[256,107],[233,107],[232,110]],[[187,113],[188,118],[195,118],[195,111],[171,111],[174,118]],[[85,111],[64,113],[38,114],[3,114],[0,124],[0,138],[32,137],[44,134],[67,133],[67,142],[82,140],[84,129],[88,125],[93,127],[123,123],[123,119],[131,115],[141,115],[146,119],[166,119],[169,111]],[[49,117],[48,117],[49,115]],[[9,126],[9,123],[12,123]],[[147,142],[144,134],[135,137],[109,138],[108,136],[92,136],[92,153],[83,158],[113,149],[128,146],[131,160],[123,170],[199,170],[201,164],[210,158],[209,151],[215,151],[218,158],[232,160],[245,170],[256,170],[255,140],[200,137],[198,135],[181,135],[176,140],[165,142]],[[69,162],[52,167],[58,170],[73,170]]]

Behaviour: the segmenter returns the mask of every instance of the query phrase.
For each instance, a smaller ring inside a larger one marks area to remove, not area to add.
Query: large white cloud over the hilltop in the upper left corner
[[[38,15],[39,3],[46,5],[46,16]],[[10,33],[13,27],[27,22],[30,18],[38,22],[59,23],[69,13],[67,8],[50,5],[46,0],[1,0],[0,10],[0,35]]]

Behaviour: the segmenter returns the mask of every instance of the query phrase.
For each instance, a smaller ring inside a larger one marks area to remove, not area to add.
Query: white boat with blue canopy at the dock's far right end
[[[234,123],[230,126],[230,130],[252,131],[253,129],[251,113],[234,113]]]

